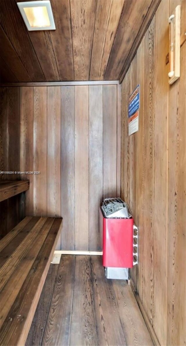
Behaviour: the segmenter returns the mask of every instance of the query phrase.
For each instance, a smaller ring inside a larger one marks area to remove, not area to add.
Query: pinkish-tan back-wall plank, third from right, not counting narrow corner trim
[[[89,87],[75,86],[75,250],[89,247]]]

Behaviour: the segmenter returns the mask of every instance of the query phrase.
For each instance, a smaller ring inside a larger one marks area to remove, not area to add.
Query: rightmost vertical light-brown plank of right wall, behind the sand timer
[[[181,28],[186,23],[183,1],[169,1],[169,15],[181,4]],[[185,17],[184,17],[185,16]],[[181,31],[182,32],[182,31]],[[167,344],[184,345],[186,333],[186,44],[180,51],[180,78],[169,86],[168,122],[168,277],[167,277]]]

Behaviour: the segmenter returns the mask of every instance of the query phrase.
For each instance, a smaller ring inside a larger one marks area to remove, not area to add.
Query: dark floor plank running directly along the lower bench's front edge
[[[41,345],[52,300],[58,264],[50,264],[25,346]]]

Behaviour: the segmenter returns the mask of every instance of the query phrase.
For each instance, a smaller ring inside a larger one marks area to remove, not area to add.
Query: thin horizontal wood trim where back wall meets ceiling
[[[1,83],[1,86],[67,86],[67,85],[113,85],[119,81],[80,81],[80,82],[15,82]]]

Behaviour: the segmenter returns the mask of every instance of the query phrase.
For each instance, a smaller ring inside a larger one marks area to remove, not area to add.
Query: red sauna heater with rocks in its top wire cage
[[[103,266],[108,279],[129,278],[129,268],[138,263],[138,229],[127,204],[108,198],[100,208],[103,235]]]

